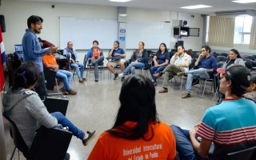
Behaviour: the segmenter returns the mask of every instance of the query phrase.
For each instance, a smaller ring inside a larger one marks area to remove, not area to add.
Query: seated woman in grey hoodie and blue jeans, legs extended
[[[82,140],[84,146],[94,138],[96,131],[86,134],[79,130],[60,112],[50,114],[46,110],[38,94],[33,91],[40,74],[34,62],[25,62],[14,74],[14,85],[3,94],[2,106],[4,113],[16,124],[26,146],[30,148],[36,130],[42,125],[54,128],[58,123],[68,126],[70,132]]]

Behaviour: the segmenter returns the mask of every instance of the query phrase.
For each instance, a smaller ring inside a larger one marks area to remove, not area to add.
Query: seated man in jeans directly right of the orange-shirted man
[[[78,74],[79,82],[84,83],[86,81],[86,78],[83,78],[83,70],[85,70],[85,66],[79,62],[78,54],[73,48],[73,42],[67,42],[67,47],[63,50],[63,55],[66,57],[68,55],[70,56],[70,67],[74,68]]]

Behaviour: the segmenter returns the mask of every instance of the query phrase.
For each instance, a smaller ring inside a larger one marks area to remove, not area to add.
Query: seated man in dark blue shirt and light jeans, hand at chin
[[[185,70],[178,72],[178,76],[187,74],[186,80],[186,94],[182,94],[182,98],[191,97],[191,86],[193,79],[205,78],[208,79],[213,76],[213,73],[217,69],[217,60],[214,56],[210,55],[210,46],[202,46],[202,53],[199,54],[197,61],[194,63],[196,70]]]

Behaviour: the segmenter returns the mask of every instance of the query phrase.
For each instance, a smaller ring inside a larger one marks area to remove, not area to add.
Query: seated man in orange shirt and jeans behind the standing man
[[[61,88],[63,94],[71,94],[75,95],[77,94],[77,91],[72,90],[70,87],[70,81],[72,78],[72,73],[67,70],[59,70],[58,64],[56,62],[56,59],[54,58],[54,55],[49,53],[44,55],[43,57],[43,66],[46,68],[49,68],[50,70],[56,70],[56,77],[61,78],[64,86]]]

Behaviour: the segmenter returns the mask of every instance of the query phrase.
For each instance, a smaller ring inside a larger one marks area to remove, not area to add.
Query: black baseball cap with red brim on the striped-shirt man
[[[218,68],[217,72],[220,74],[226,74],[230,78],[234,86],[240,86],[246,90],[250,86],[250,70],[246,66],[232,65],[226,69]]]

